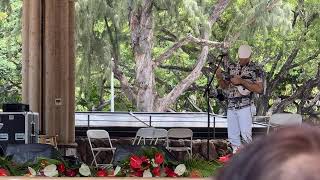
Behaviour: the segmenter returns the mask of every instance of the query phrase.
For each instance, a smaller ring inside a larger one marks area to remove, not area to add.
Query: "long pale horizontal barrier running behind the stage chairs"
[[[226,127],[226,117],[211,114],[216,127]],[[145,112],[76,112],[76,126],[84,127],[207,127],[207,113],[145,113]]]

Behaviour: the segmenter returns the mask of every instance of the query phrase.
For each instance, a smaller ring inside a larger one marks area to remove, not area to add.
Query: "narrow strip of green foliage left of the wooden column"
[[[0,3],[0,104],[21,101],[21,0]]]

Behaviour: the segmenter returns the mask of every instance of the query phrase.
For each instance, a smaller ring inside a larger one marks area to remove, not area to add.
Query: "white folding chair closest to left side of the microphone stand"
[[[168,130],[167,135],[167,149],[169,151],[187,151],[190,157],[192,157],[192,137],[193,132],[187,128],[172,128]],[[170,144],[170,139],[188,139],[190,140],[190,146],[176,147]]]

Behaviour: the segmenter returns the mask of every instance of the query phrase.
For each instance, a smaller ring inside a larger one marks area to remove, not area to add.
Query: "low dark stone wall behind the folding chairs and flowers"
[[[78,144],[77,147],[77,154],[78,157],[85,163],[91,164],[93,157],[92,152],[90,150],[89,142],[87,138],[84,137],[78,137],[76,138],[76,142]],[[130,145],[132,144],[133,139],[132,138],[126,138],[126,139],[112,139],[112,145],[114,147],[121,146],[121,145]],[[107,141],[102,140],[94,140],[93,142],[95,145],[98,146],[109,146]],[[148,143],[148,142],[147,142]],[[183,141],[183,140],[174,140],[170,141],[172,145],[175,146],[184,146],[185,143],[190,143],[190,141]],[[193,140],[192,142],[192,152],[193,156],[207,159],[207,140]],[[159,140],[158,145],[165,146],[164,140]],[[209,141],[209,159],[213,160],[216,159],[218,156],[224,155],[230,151],[230,148],[228,148],[227,142],[225,140],[210,140]],[[186,152],[172,152],[172,154],[179,160],[183,160],[188,157],[188,154]],[[110,152],[102,152],[98,157],[98,163],[110,163],[112,158],[112,153]]]

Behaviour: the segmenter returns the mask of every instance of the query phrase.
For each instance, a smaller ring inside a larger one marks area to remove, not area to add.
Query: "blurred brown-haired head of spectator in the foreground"
[[[280,129],[247,145],[215,180],[320,179],[320,128]]]

